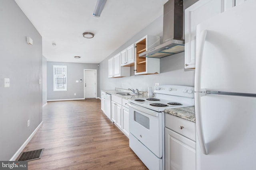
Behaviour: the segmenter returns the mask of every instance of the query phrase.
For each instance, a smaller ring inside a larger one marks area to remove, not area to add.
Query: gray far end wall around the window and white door
[[[53,65],[67,66],[67,91],[54,92],[53,91]],[[97,70],[97,92],[99,91],[99,66],[98,64],[84,64],[84,63],[61,63],[61,62],[47,62],[47,100],[65,100],[65,99],[79,99],[84,98],[84,69]],[[82,82],[76,83],[76,80],[82,79]],[[76,93],[76,96],[74,96]]]

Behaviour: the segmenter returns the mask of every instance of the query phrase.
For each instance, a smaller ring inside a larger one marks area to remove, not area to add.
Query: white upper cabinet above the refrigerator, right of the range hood
[[[195,68],[196,25],[242,1],[245,0],[199,0],[185,10],[185,68]]]

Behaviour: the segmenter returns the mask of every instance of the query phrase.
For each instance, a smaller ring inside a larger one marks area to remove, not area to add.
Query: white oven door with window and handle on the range
[[[129,131],[158,158],[162,158],[162,112],[129,103]]]

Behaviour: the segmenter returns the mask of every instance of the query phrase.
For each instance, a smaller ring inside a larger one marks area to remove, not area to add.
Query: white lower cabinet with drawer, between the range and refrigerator
[[[166,114],[165,170],[196,170],[195,135],[195,123]]]

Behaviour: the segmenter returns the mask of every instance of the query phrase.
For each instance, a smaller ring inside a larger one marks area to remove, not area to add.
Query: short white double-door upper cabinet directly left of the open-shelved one
[[[121,66],[132,66],[134,65],[134,44],[130,45],[126,49],[120,52],[121,55]]]

